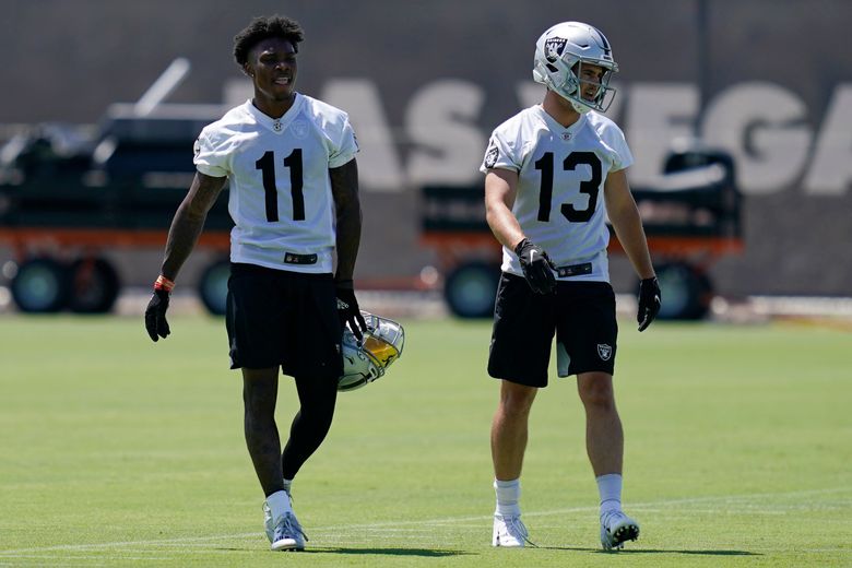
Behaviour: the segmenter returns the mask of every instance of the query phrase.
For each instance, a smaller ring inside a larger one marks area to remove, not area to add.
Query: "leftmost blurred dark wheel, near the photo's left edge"
[[[54,313],[66,307],[70,293],[68,267],[48,258],[24,262],[11,283],[12,299],[27,313]]]

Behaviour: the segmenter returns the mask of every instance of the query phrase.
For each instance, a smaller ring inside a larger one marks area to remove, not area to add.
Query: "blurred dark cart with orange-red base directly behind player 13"
[[[666,157],[659,179],[632,188],[632,194],[663,291],[659,317],[706,317],[714,293],[709,267],[744,249],[743,196],[733,158],[682,143]],[[421,192],[421,240],[436,251],[445,300],[461,318],[492,316],[500,273],[501,249],[485,222],[483,197],[482,185],[425,186]],[[610,252],[624,252],[614,234]]]

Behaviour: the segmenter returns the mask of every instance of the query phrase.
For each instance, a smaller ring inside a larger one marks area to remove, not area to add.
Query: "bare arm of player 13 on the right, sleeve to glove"
[[[654,277],[654,268],[651,263],[651,255],[648,252],[642,220],[639,217],[639,210],[630,193],[626,169],[611,171],[606,176],[604,199],[615,234],[637,275],[642,280]]]

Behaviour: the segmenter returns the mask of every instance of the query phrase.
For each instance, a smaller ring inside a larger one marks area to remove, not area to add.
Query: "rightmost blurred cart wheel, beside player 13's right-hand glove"
[[[698,320],[707,316],[713,297],[710,279],[684,262],[656,268],[656,279],[663,294],[659,319]]]

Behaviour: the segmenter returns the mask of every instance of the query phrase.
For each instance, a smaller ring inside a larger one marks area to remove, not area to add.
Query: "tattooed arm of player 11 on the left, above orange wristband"
[[[177,277],[180,267],[196,247],[198,237],[204,228],[208,212],[225,187],[226,179],[196,173],[187,197],[178,206],[175,218],[171,220],[171,227],[168,229],[166,256],[161,270],[161,274],[168,280],[174,281]]]

